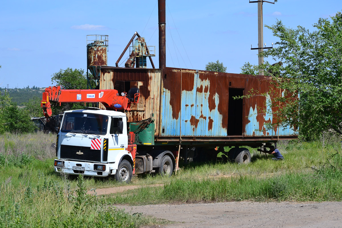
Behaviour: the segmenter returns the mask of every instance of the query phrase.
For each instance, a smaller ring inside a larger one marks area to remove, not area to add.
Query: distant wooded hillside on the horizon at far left
[[[0,89],[1,92],[4,92],[5,90],[2,88]],[[9,89],[8,93],[10,94],[10,97],[12,97],[12,102],[17,103],[17,105],[21,106],[23,103],[28,102],[29,99],[33,97],[42,97],[43,90],[39,90],[37,88],[36,90],[31,89]]]

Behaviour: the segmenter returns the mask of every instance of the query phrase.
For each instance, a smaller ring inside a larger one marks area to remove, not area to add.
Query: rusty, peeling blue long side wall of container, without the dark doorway
[[[228,136],[229,88],[249,95],[251,89],[260,95],[241,100],[243,117],[241,136],[287,136],[293,128],[265,130],[265,123],[275,123],[270,89],[279,93],[263,76],[163,68],[160,106],[160,136]],[[242,104],[243,103],[243,104]]]

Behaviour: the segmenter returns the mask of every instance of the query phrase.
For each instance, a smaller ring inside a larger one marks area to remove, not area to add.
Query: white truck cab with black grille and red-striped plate
[[[54,170],[71,175],[115,175],[118,181],[129,182],[135,147],[133,153],[132,145],[128,145],[125,113],[110,110],[66,111],[57,135]]]

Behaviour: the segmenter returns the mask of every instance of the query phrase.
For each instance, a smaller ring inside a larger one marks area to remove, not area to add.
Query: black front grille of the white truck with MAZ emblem
[[[101,150],[91,150],[90,147],[85,146],[61,145],[61,159],[101,162]]]

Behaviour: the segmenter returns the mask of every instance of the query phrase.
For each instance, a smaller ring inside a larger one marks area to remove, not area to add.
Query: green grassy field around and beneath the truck
[[[53,172],[55,135],[0,136],[1,227],[138,227],[166,221],[130,215],[113,204],[222,201],[340,201],[340,145],[319,142],[278,144],[284,161],[255,149],[245,165],[221,161],[182,165],[171,178],[133,177],[129,185],[146,187],[104,197],[89,189],[120,186],[114,178],[67,178]],[[225,148],[228,150],[228,148]],[[148,187],[164,184],[163,187]],[[96,190],[95,190],[96,191]],[[81,224],[81,225],[80,225]]]

